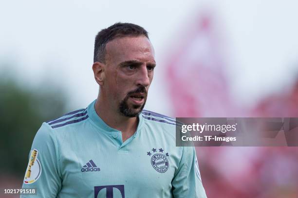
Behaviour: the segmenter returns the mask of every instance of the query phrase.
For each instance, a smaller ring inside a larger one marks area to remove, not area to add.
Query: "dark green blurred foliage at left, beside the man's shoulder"
[[[42,122],[68,110],[66,95],[57,90],[49,84],[26,88],[0,76],[1,174],[24,177],[31,144]]]

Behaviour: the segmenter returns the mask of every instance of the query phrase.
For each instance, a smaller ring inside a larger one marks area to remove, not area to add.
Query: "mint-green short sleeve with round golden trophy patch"
[[[34,138],[29,153],[22,188],[36,189],[36,195],[22,195],[21,198],[56,198],[61,188],[59,150],[52,128],[43,123]]]

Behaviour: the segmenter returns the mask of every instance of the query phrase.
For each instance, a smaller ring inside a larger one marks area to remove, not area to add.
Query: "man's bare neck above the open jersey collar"
[[[111,110],[112,104],[98,96],[95,102],[96,114],[111,128],[122,132],[123,142],[132,136],[138,126],[138,117],[126,117],[117,110]]]

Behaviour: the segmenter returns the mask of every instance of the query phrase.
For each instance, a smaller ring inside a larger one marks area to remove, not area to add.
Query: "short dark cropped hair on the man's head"
[[[144,35],[148,39],[148,32],[141,26],[132,23],[115,23],[114,25],[101,30],[95,36],[93,63],[105,63],[106,44],[115,38],[125,36],[140,36]]]

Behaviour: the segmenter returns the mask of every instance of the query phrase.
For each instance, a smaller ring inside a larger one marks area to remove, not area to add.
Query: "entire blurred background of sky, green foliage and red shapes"
[[[43,121],[97,97],[94,37],[115,22],[143,26],[155,48],[145,109],[298,117],[297,10],[291,0],[1,1],[0,189],[21,186]],[[298,197],[297,147],[196,150],[209,198]]]

